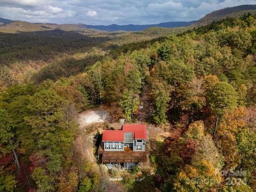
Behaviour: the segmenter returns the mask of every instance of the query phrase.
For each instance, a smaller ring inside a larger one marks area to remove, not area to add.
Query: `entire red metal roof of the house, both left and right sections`
[[[147,139],[145,124],[124,124],[123,130],[105,130],[102,141],[124,141],[124,133],[132,132],[133,139]]]

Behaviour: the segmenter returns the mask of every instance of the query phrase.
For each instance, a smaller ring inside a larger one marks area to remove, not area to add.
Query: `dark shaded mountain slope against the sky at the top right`
[[[227,7],[221,10],[213,11],[212,13],[206,14],[202,19],[197,20],[193,27],[207,25],[213,21],[219,21],[223,18],[239,18],[247,13],[256,13],[256,5],[240,5],[234,7]]]

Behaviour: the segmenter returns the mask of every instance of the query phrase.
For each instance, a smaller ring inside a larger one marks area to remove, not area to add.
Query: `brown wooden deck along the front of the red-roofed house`
[[[132,151],[130,148],[124,151],[104,151],[103,143],[100,143],[98,154],[102,155],[102,163],[145,162],[147,153],[144,151]]]

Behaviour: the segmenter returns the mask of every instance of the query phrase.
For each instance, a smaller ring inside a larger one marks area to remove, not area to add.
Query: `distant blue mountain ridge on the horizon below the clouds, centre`
[[[173,28],[173,27],[186,27],[190,26],[196,21],[178,21],[178,22],[163,22],[158,24],[152,24],[152,25],[85,25],[82,24],[81,26],[87,29],[98,29],[98,30],[105,30],[105,31],[117,31],[117,30],[125,30],[125,31],[141,31],[145,30],[150,27],[166,27],[166,28]]]

